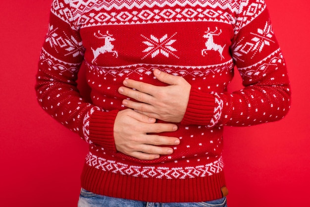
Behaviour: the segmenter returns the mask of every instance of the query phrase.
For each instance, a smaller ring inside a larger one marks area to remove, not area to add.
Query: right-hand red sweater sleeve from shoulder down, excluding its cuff
[[[245,88],[219,95],[224,103],[219,123],[229,126],[276,121],[283,118],[290,107],[286,64],[267,9],[248,23],[244,20],[250,17],[243,15],[237,19],[241,28],[235,31],[231,49]]]

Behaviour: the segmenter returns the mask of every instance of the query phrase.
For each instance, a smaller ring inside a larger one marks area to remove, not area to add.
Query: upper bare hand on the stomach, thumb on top
[[[154,75],[168,86],[124,80],[123,84],[126,87],[120,87],[118,92],[138,102],[123,100],[123,104],[155,119],[181,122],[187,108],[191,85],[182,77],[170,75],[158,69],[154,70]]]

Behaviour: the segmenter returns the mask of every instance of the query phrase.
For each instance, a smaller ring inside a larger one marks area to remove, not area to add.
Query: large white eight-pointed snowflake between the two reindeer
[[[179,58],[174,52],[177,50],[173,48],[171,45],[176,41],[172,40],[172,38],[177,33],[174,33],[171,37],[168,38],[168,35],[165,34],[160,39],[156,38],[154,35],[151,35],[151,38],[147,38],[144,35],[141,35],[144,39],[147,41],[144,41],[143,43],[148,46],[147,49],[145,49],[143,52],[147,52],[147,54],[142,58],[146,58],[147,56],[151,55],[152,58],[154,58],[157,54],[163,54],[166,57],[169,57],[169,54],[175,56],[176,58]]]

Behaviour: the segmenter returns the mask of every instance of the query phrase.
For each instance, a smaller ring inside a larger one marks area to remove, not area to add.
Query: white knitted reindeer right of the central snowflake
[[[218,32],[217,27],[215,27],[214,31],[210,31],[210,28],[208,27],[207,32],[205,33],[206,34],[204,35],[204,38],[207,39],[207,42],[205,43],[207,48],[203,49],[201,51],[201,54],[205,56],[205,54],[207,54],[207,51],[215,51],[215,52],[217,51],[219,55],[221,56],[221,60],[222,60],[224,58],[222,53],[226,45],[220,46],[220,45],[215,44],[213,41],[213,36],[219,36],[222,33],[222,30],[220,29]]]

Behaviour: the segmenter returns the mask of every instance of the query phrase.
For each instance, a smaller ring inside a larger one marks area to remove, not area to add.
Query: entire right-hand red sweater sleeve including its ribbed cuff
[[[266,5],[250,0],[240,7],[231,52],[245,88],[204,95],[192,89],[183,123],[250,126],[279,120],[290,108],[286,64]]]

